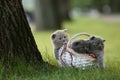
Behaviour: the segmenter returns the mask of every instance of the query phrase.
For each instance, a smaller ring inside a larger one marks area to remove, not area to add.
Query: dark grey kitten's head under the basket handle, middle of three
[[[78,40],[73,42],[72,49],[78,53],[86,53],[88,51],[89,45],[85,40]]]

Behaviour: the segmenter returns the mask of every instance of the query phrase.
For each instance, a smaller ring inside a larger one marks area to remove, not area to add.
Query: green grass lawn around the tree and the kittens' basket
[[[71,22],[65,22],[63,28],[68,29],[70,36],[87,32],[101,36],[105,42],[105,69],[79,70],[72,68],[51,68],[34,69],[30,66],[20,65],[11,70],[7,75],[8,80],[120,80],[120,23],[104,22],[100,19],[81,17]],[[54,31],[36,32],[33,31],[36,43],[45,61],[57,65],[54,58],[53,46],[50,35]],[[0,71],[2,78],[2,68]]]

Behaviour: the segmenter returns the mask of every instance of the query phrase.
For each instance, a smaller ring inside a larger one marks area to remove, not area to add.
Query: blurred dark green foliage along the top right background
[[[71,0],[71,7],[79,7],[81,9],[85,8],[95,8],[99,12],[103,13],[104,8],[109,6],[112,13],[120,12],[120,0]]]

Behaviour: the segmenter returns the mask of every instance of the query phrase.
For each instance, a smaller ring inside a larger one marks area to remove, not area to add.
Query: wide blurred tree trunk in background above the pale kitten
[[[37,30],[61,29],[69,19],[69,0],[36,0],[35,4]]]

